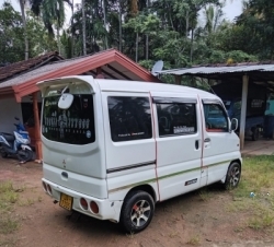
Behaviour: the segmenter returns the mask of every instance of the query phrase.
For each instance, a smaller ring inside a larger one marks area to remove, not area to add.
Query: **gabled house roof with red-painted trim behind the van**
[[[0,83],[0,98],[14,95],[20,102],[22,97],[38,91],[36,83],[60,77],[91,74],[96,77],[101,70],[104,78],[116,80],[134,80],[160,82],[148,70],[130,60],[115,49],[103,50],[93,55],[61,60],[26,71]]]

